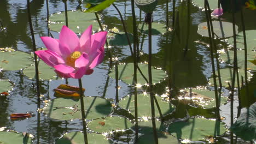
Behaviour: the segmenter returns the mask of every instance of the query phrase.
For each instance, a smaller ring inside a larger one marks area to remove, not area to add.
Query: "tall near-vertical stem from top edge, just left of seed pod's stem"
[[[133,25],[133,85],[134,87],[134,106],[135,106],[135,141],[138,140],[138,98],[137,98],[137,56],[136,49],[138,47],[138,34],[137,34],[137,25],[136,25],[136,16],[135,16],[135,6],[134,0],[131,0],[131,9],[132,9],[132,25]]]

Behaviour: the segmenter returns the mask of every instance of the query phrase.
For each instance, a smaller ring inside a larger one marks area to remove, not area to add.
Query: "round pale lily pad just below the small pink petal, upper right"
[[[212,26],[214,29],[214,37],[228,38],[233,35],[233,28],[231,22],[213,21]],[[198,25],[197,33],[203,37],[209,37],[207,22],[202,22]],[[236,26],[236,33],[238,33],[238,27]]]

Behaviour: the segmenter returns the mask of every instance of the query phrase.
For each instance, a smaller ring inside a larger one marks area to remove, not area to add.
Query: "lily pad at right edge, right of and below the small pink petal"
[[[247,49],[248,51],[256,51],[256,39],[255,39],[255,33],[256,30],[249,30],[246,31],[246,43],[247,43]],[[244,44],[243,44],[243,32],[240,32],[236,35],[236,47],[237,49],[244,49]],[[228,43],[233,45],[234,44],[234,39],[229,38]]]

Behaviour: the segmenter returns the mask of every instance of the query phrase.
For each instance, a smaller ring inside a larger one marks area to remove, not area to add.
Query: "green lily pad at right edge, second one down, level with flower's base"
[[[254,59],[256,56],[256,52],[248,51],[247,52],[247,59]],[[221,61],[224,61],[229,64],[234,63],[234,51],[227,51],[226,53],[219,56]],[[237,50],[237,65],[238,68],[245,69],[245,51],[244,50]],[[247,62],[247,69],[256,70],[256,65],[251,62]]]

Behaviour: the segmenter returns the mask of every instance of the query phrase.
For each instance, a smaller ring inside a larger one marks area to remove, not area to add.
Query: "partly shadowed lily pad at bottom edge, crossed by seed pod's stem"
[[[155,125],[156,125],[156,130],[158,131],[158,142],[159,143],[172,143],[172,144],[179,143],[176,137],[160,131],[160,129],[162,129],[162,123],[160,121],[155,121]],[[139,131],[139,133],[142,133],[144,135],[139,136],[139,139],[136,143],[148,143],[148,144],[155,143],[151,120],[139,122],[138,127],[139,127],[139,129],[141,129],[141,131]]]

